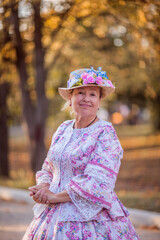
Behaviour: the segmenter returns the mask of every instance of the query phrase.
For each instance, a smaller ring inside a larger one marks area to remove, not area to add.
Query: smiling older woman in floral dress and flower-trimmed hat
[[[97,117],[101,99],[114,90],[101,68],[73,71],[67,88],[59,88],[75,119],[55,132],[29,188],[35,216],[23,240],[139,239],[114,192],[122,147],[112,124]]]

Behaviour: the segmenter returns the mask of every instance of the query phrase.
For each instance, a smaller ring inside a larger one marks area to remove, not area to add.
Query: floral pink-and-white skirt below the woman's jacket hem
[[[48,207],[34,218],[22,240],[138,240],[128,217],[88,222],[59,221],[59,210]]]

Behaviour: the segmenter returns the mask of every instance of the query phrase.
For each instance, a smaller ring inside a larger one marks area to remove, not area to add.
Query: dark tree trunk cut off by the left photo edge
[[[0,176],[9,177],[7,95],[9,83],[0,85]]]

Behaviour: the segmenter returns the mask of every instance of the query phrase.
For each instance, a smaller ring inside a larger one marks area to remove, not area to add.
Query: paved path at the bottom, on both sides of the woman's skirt
[[[21,240],[32,217],[32,204],[0,200],[0,239]],[[159,230],[136,230],[141,240],[160,240]]]

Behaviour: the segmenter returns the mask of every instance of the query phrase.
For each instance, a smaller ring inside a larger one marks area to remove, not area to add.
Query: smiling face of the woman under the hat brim
[[[96,116],[100,105],[100,88],[90,86],[74,89],[71,105],[75,114],[81,117]]]

